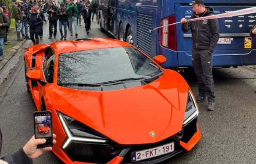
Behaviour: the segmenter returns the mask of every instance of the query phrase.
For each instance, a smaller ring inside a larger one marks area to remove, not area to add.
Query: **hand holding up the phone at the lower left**
[[[56,144],[56,135],[53,134],[53,144]],[[39,156],[41,156],[44,152],[48,152],[52,150],[52,147],[46,147],[46,148],[38,148],[37,145],[44,144],[46,142],[43,138],[35,139],[35,136],[30,138],[29,142],[26,143],[26,145],[23,147],[23,151],[30,159],[35,159]]]

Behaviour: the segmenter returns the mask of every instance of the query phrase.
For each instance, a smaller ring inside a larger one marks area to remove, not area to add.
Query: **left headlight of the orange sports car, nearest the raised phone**
[[[58,112],[60,122],[67,134],[67,138],[62,146],[65,149],[72,141],[79,142],[96,142],[96,143],[106,143],[108,139],[103,137],[101,134],[95,132],[88,126],[82,124],[81,122],[75,120],[74,118],[68,117],[64,114]]]

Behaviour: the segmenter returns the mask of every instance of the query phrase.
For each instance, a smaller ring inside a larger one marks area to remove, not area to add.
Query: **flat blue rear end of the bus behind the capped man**
[[[252,7],[250,4],[211,4],[209,6],[214,8],[215,14]],[[193,12],[191,6],[181,4],[176,4],[175,10],[176,22],[179,22],[182,17],[189,19]],[[214,50],[213,65],[229,67],[256,64],[256,39],[249,35],[249,31],[256,23],[256,14],[226,17],[218,20],[220,38]],[[177,32],[178,65],[192,66],[191,31],[183,33],[181,24],[177,28],[180,29],[180,32]]]

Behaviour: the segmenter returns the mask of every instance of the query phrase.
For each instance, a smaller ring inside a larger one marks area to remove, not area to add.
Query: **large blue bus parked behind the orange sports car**
[[[179,22],[192,14],[192,0],[99,0],[98,23],[101,30],[140,48],[146,54],[165,55],[166,68],[191,67],[192,35],[183,33],[181,24],[149,30]],[[255,0],[205,0],[215,14],[255,7]],[[214,67],[256,64],[256,38],[249,31],[256,24],[256,13],[219,19],[220,39],[214,51]]]

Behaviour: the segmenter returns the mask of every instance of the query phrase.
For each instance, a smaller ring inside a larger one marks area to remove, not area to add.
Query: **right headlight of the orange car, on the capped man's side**
[[[187,107],[186,107],[186,113],[184,117],[183,126],[188,124],[191,120],[193,120],[195,117],[198,116],[198,108],[196,105],[196,101],[194,97],[192,96],[192,93],[190,90],[188,90],[188,100],[187,100]]]

